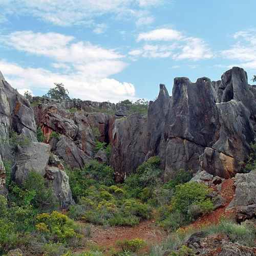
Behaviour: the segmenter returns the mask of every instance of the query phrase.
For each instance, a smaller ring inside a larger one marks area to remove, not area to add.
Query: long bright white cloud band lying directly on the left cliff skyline
[[[84,100],[118,102],[135,100],[135,87],[131,83],[110,78],[88,78],[82,73],[60,74],[45,69],[23,68],[16,63],[0,60],[0,70],[5,79],[18,90],[42,90],[47,92],[54,82],[62,82],[70,96]],[[23,91],[21,91],[23,92]]]

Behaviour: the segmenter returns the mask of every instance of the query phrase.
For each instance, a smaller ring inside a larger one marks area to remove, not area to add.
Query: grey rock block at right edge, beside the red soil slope
[[[236,186],[236,190],[229,208],[256,204],[256,171],[237,174],[234,186]]]

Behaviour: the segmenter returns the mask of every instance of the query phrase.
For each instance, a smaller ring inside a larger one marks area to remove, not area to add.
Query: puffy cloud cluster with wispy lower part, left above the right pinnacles
[[[129,54],[132,56],[172,57],[176,60],[199,60],[214,56],[203,39],[187,37],[182,32],[170,28],[160,28],[140,33],[137,36],[137,41],[145,41],[145,45],[130,51]]]

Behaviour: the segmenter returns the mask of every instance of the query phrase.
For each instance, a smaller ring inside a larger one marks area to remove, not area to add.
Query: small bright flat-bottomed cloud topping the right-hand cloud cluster
[[[155,29],[150,32],[140,33],[137,41],[172,41],[182,39],[182,33],[174,29]]]

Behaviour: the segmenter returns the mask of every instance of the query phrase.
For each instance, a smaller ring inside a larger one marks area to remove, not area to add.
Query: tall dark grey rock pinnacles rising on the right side
[[[236,67],[217,82],[206,77],[195,83],[185,77],[175,78],[172,97],[161,84],[158,98],[148,109],[147,137],[140,136],[138,140],[129,136],[127,141],[125,136],[134,124],[127,121],[116,126],[115,134],[119,137],[113,140],[113,166],[119,173],[135,170],[131,158],[119,159],[127,150],[120,145],[130,143],[136,151],[143,148],[136,163],[153,155],[161,157],[166,181],[181,168],[194,173],[205,170],[223,178],[234,176],[248,157],[254,139],[254,93],[246,72]]]

